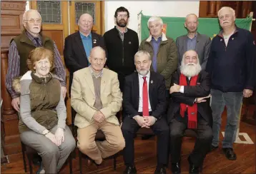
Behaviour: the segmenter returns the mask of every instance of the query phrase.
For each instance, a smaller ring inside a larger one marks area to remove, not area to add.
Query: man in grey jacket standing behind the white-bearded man
[[[211,39],[205,34],[199,34],[197,32],[197,25],[197,15],[188,14],[184,23],[184,26],[187,29],[187,34],[179,36],[176,40],[179,58],[178,66],[180,66],[180,63],[182,62],[182,56],[184,52],[192,49],[197,51],[202,70],[205,70],[207,59],[210,53]]]

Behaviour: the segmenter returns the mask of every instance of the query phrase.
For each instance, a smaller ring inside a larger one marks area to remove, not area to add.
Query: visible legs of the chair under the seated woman
[[[37,151],[34,150],[34,148],[29,147],[29,145],[25,145],[21,142],[21,150],[22,150],[22,158],[23,158],[23,164],[24,164],[24,171],[26,173],[26,157],[29,160],[29,173],[33,173],[32,169],[32,159],[35,154],[37,154]],[[69,155],[69,173],[72,173],[72,153]]]

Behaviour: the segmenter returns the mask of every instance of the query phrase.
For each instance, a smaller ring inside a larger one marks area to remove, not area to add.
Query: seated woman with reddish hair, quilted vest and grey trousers
[[[14,89],[20,88],[21,93],[20,138],[41,155],[45,173],[57,173],[76,143],[66,125],[61,79],[50,73],[54,68],[54,54],[38,47],[29,53],[26,63],[30,71],[21,77],[20,83],[13,83]]]

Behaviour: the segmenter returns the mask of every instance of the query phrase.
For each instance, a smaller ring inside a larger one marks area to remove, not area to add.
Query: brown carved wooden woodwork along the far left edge
[[[18,131],[18,115],[11,106],[11,96],[6,90],[9,43],[23,30],[22,15],[26,1],[1,1],[1,144],[4,155],[18,153],[21,144]]]

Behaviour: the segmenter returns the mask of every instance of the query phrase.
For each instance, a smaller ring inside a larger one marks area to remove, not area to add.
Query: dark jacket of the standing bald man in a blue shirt
[[[101,35],[92,32],[92,48],[94,46],[101,46],[106,50],[104,39]],[[73,73],[79,69],[89,66],[87,53],[84,50],[84,45],[77,31],[74,34],[67,36],[64,46],[64,61],[67,68],[69,68],[69,93],[72,86]]]

